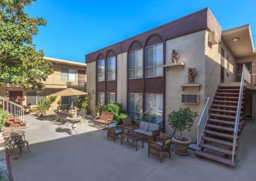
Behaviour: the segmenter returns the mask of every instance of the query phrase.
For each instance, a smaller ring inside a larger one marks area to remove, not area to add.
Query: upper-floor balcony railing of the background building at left
[[[67,78],[61,76],[48,76],[45,85],[73,85],[84,87],[86,78]]]

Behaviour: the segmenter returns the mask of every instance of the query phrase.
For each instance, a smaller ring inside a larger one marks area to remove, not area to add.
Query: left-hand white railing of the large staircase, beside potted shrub
[[[201,141],[201,138],[204,134],[204,129],[205,129],[205,125],[207,124],[207,120],[209,118],[209,101],[210,101],[210,98],[205,98],[205,106],[204,106],[204,110],[201,114],[201,117],[198,121],[198,124],[197,124],[197,140],[196,140],[196,150],[198,151],[198,147],[199,147],[199,144],[200,144],[200,141]]]

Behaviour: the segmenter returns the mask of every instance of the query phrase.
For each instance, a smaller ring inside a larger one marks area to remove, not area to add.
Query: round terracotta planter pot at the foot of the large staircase
[[[188,155],[188,146],[191,144],[191,139],[183,136],[183,140],[179,140],[179,137],[174,136],[172,138],[173,140],[173,145],[174,145],[174,151],[181,155],[181,156],[186,156]]]

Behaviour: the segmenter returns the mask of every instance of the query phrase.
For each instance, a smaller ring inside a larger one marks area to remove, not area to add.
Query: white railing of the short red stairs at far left
[[[13,101],[9,101],[6,98],[0,96],[0,107],[8,113],[8,115],[19,119],[25,123],[24,120],[24,108]]]

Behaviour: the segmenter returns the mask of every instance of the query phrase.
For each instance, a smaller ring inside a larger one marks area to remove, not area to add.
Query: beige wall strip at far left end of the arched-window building
[[[87,82],[86,82],[86,92],[91,96],[90,108],[93,111],[95,108],[96,99],[96,62],[90,62],[87,64]]]

